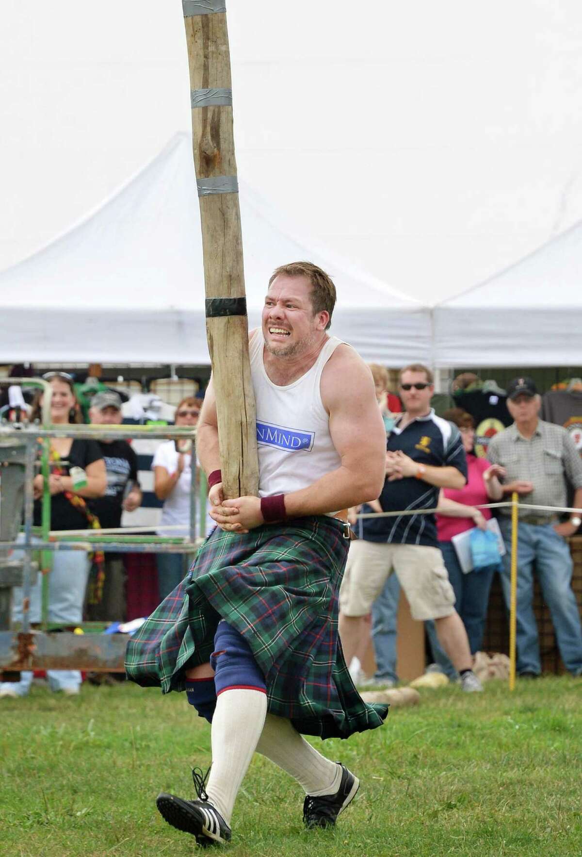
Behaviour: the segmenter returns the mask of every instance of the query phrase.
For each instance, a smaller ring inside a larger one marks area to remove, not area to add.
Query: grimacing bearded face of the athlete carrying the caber
[[[307,277],[279,274],[264,299],[262,326],[267,351],[293,357],[309,351],[330,321],[327,312],[313,315],[312,284]]]

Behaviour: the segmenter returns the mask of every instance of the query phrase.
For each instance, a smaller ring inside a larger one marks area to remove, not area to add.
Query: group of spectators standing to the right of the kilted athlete
[[[386,424],[388,375],[375,365],[371,371]],[[360,686],[398,681],[402,588],[413,619],[425,621],[430,669],[459,680],[465,691],[481,690],[472,662],[483,643],[496,572],[509,608],[511,509],[496,510],[498,538],[492,512],[479,506],[514,493],[520,495],[517,672],[535,678],[542,669],[533,610],[537,576],[561,659],[579,676],[582,626],[567,537],[582,524],[576,511],[582,509],[582,383],[569,381],[542,399],[531,378],[515,378],[503,391],[466,373],[454,388],[457,406],[437,417],[431,370],[419,363],[401,370],[403,410],[395,414],[392,405],[388,415],[383,492],[350,510],[359,539],[350,546],[341,585],[340,633],[353,679]],[[574,511],[562,513],[565,507]],[[376,672],[366,675],[371,644]]]

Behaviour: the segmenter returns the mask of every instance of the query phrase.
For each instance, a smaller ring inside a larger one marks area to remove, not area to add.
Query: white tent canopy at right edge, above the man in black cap
[[[433,310],[436,366],[579,366],[582,220]]]

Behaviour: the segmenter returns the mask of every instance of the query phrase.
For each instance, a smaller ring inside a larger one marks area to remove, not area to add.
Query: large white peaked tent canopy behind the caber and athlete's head
[[[429,357],[428,309],[289,237],[244,183],[240,197],[251,327],[273,268],[307,259],[336,282],[332,333],[365,360]],[[0,361],[208,364],[204,308],[199,204],[182,133],[79,225],[0,274]]]

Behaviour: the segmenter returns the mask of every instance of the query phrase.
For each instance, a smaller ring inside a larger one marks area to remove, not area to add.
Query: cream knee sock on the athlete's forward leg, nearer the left
[[[227,824],[251,764],[267,711],[264,692],[233,688],[221,693],[212,717],[212,767],[206,793]]]

